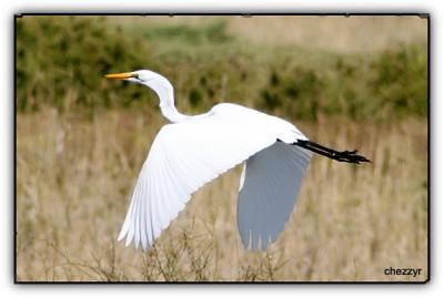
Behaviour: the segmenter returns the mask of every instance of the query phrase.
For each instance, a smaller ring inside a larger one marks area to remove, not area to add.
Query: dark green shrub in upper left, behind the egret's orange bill
[[[149,44],[128,38],[103,18],[20,18],[17,20],[18,109],[127,105],[140,99],[140,92],[125,89],[118,99],[117,90],[121,86],[107,82],[103,75],[155,65],[150,52]]]

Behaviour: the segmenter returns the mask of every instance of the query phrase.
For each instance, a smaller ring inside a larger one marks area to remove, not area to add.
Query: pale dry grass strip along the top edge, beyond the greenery
[[[130,28],[155,24],[202,27],[226,22],[228,32],[246,44],[292,45],[341,53],[383,51],[397,43],[426,41],[427,22],[395,16],[253,16],[235,17],[108,17]],[[339,34],[340,32],[340,34]]]

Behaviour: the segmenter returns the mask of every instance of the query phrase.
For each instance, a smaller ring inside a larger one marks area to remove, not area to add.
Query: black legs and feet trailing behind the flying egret
[[[359,164],[359,163],[370,163],[367,158],[365,158],[362,155],[356,154],[357,150],[354,151],[335,151],[329,147],[324,147],[320,144],[316,144],[311,141],[301,141],[297,140],[296,143],[293,143],[293,145],[297,145],[300,147],[310,150],[314,153],[324,155],[329,158],[335,160],[337,162],[345,162],[345,163],[353,163],[353,164]]]

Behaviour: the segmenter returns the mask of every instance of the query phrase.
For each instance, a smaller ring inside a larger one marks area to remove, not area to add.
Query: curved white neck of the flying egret
[[[167,81],[167,80],[165,80]],[[190,116],[180,113],[174,106],[174,91],[170,82],[157,81],[149,85],[158,94],[162,115],[171,123],[183,122]]]

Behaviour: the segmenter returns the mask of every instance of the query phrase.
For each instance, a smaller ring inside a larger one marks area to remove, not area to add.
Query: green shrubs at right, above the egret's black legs
[[[427,58],[416,44],[370,61],[336,58],[326,68],[278,65],[271,69],[258,105],[287,117],[315,120],[322,114],[384,121],[427,114]]]

